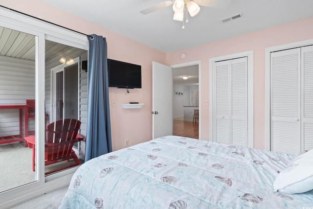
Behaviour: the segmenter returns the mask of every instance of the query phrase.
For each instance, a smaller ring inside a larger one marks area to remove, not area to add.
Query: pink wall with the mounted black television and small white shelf
[[[125,148],[125,139],[130,145],[151,140],[152,138],[152,62],[166,62],[166,54],[134,40],[112,32],[94,23],[90,23],[61,9],[53,7],[41,0],[1,0],[1,5],[39,17],[45,21],[56,23],[70,29],[106,37],[108,58],[141,65],[142,89],[110,88],[110,104],[116,100],[116,107],[110,107],[112,149]],[[66,21],[65,21],[66,20]],[[138,101],[144,103],[141,109],[123,109],[121,103]]]

